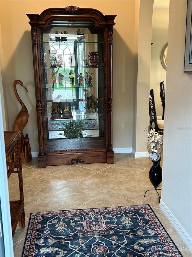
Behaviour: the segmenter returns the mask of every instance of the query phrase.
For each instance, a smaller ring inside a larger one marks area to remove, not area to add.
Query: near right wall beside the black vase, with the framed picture
[[[183,72],[186,10],[187,1],[170,1],[161,208],[192,251],[192,74]]]

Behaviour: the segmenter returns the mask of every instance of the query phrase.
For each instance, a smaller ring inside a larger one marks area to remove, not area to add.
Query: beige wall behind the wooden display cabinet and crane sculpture
[[[51,7],[76,5],[95,8],[103,14],[117,14],[113,36],[113,147],[132,147],[133,73],[134,73],[134,1],[9,1],[1,0],[2,76],[7,91],[8,130],[21,106],[17,101],[13,82],[22,80],[29,93],[20,85],[19,96],[29,111],[29,121],[23,130],[28,133],[32,152],[38,151],[35,89],[31,28],[26,14],[40,14]],[[126,10],[126,15],[125,15]],[[123,103],[123,104],[122,104]]]

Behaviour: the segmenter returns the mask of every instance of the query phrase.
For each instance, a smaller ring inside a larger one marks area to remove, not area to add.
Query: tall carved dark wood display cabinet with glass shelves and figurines
[[[32,33],[39,168],[114,163],[112,46],[116,15],[68,6],[27,16]],[[59,135],[70,121],[82,121],[88,136]]]

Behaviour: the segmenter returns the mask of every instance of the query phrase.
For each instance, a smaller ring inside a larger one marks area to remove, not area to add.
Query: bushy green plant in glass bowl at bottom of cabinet
[[[84,132],[85,128],[82,121],[69,121],[64,124],[62,130],[63,133],[59,133],[59,135],[63,135],[67,139],[91,137],[91,135],[86,135],[87,133]]]

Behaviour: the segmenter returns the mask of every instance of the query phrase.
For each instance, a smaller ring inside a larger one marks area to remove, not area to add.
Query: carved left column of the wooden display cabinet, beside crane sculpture
[[[39,79],[39,62],[38,62],[38,42],[37,42],[37,26],[32,25],[32,48],[33,48],[33,67],[35,79],[35,96],[36,96],[36,109],[37,109],[37,125],[38,125],[38,138],[39,138],[39,168],[46,168],[46,156],[44,153],[44,140],[43,140],[43,123],[42,123],[42,103],[40,92],[40,79]]]

